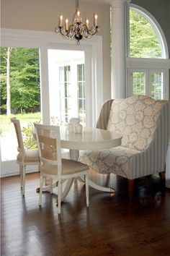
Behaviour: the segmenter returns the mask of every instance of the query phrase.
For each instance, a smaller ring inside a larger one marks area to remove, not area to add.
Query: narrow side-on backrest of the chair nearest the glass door
[[[24,143],[22,138],[22,129],[21,129],[20,121],[16,117],[12,117],[11,121],[14,124],[14,129],[17,135],[17,142],[18,142],[17,150],[19,151],[19,153],[24,154]]]

